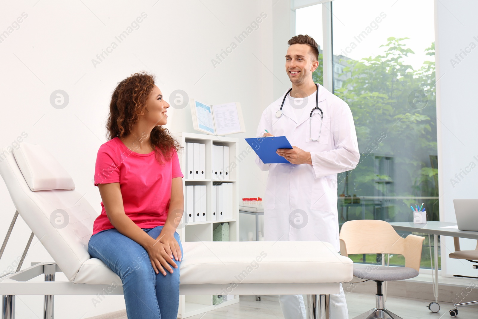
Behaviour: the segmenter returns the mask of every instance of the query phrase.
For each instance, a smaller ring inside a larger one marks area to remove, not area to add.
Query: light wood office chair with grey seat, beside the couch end
[[[405,267],[384,267],[378,264],[354,264],[354,276],[377,283],[375,308],[355,319],[402,319],[385,308],[382,282],[416,277],[420,270],[423,237],[402,238],[383,220],[349,220],[340,230],[340,254],[395,253],[405,257]]]

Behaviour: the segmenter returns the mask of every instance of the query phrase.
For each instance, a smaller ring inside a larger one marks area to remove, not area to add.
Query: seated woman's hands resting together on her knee
[[[174,238],[174,233],[160,233],[152,246],[146,248],[146,251],[148,252],[152,268],[156,274],[159,274],[159,271],[161,271],[163,275],[166,275],[164,269],[172,274],[173,268],[171,268],[171,266],[174,268],[178,267],[177,264],[174,263],[173,257],[175,260],[181,261],[181,248]]]

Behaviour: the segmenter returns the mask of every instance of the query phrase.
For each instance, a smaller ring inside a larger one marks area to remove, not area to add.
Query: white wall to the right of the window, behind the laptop
[[[462,174],[463,178],[459,177],[459,180],[455,176],[471,162],[478,165],[476,12],[477,1],[435,0],[438,176],[442,221],[456,222],[454,198],[478,198],[478,168],[473,168],[467,175]],[[471,52],[466,56],[458,56],[458,60],[455,55],[459,55],[471,43],[474,43],[474,48],[467,49]],[[448,258],[448,254],[454,251],[453,239],[441,238],[442,273],[476,276],[477,271],[471,268],[470,262]],[[474,249],[477,241],[462,239],[460,242],[461,249],[466,250]]]

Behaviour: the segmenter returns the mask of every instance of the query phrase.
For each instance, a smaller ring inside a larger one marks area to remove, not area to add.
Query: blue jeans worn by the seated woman
[[[163,226],[143,228],[156,239]],[[181,254],[183,246],[179,234],[174,232]],[[100,231],[91,236],[88,253],[92,258],[102,260],[120,276],[123,283],[124,300],[128,319],[176,319],[179,306],[179,265],[173,274],[166,269],[156,275],[146,250],[137,242],[121,234],[115,228]]]

